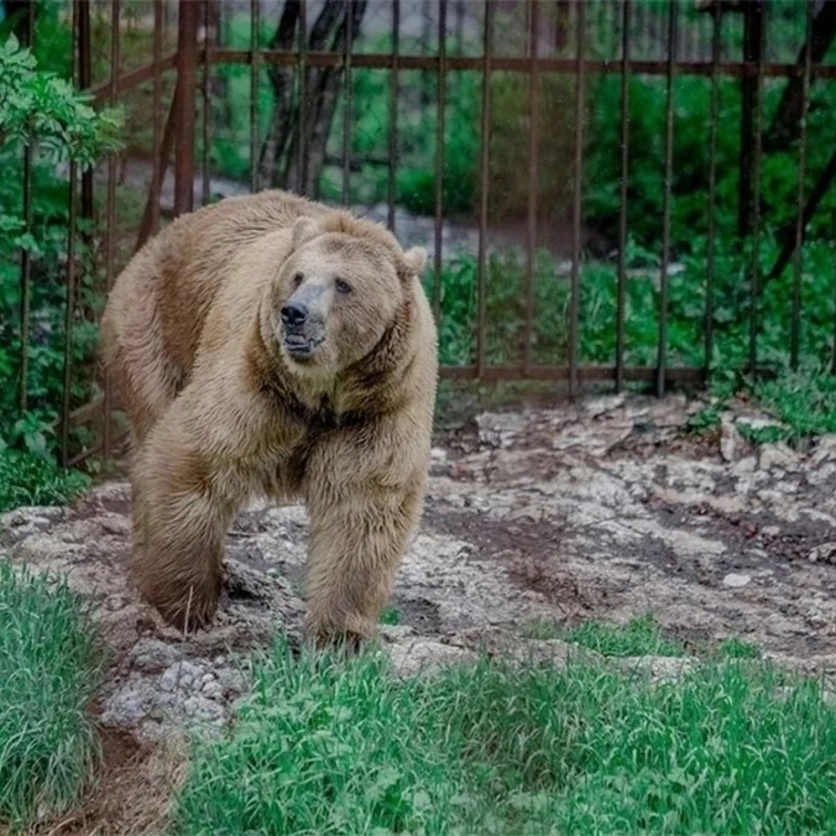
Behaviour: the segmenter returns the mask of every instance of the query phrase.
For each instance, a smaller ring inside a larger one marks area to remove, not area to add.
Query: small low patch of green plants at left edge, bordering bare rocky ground
[[[84,473],[61,470],[46,456],[0,450],[0,512],[20,505],[63,505],[89,483]]]

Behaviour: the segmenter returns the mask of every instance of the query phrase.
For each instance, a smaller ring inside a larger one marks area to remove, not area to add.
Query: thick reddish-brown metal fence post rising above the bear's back
[[[174,168],[174,212],[194,208],[195,189],[195,80],[197,64],[197,3],[180,3],[177,23],[177,151]]]

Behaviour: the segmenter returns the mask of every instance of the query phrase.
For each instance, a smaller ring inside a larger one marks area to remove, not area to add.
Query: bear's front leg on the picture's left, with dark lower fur
[[[223,489],[233,480],[190,441],[170,410],[140,449],[131,480],[135,584],[169,624],[187,630],[215,614],[223,540],[237,511]]]

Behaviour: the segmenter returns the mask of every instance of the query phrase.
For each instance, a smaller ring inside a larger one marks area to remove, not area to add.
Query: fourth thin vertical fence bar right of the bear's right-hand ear
[[[578,331],[580,313],[580,252],[581,252],[581,211],[584,200],[584,46],[586,24],[585,3],[575,4],[577,47],[575,55],[575,112],[574,112],[574,165],[572,197],[572,273],[569,294],[569,386],[568,394],[578,394]]]

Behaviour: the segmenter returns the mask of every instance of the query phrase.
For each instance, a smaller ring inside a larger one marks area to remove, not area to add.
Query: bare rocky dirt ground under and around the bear
[[[598,398],[441,432],[421,533],[395,583],[400,623],[384,630],[399,669],[518,640],[535,618],[651,612],[686,643],[736,636],[833,675],[836,436],[750,446],[737,426],[768,419],[746,405],[689,436],[702,405]],[[298,633],[302,506],[242,513],[217,621],[188,637],[126,583],[129,512],[125,482],[108,482],[72,508],[0,517],[0,552],[92,596],[111,651],[95,706],[102,782],[43,832],[158,832],[182,773],[182,730],[222,728],[247,691],[250,651],[279,628]]]

